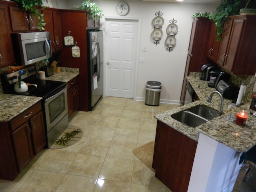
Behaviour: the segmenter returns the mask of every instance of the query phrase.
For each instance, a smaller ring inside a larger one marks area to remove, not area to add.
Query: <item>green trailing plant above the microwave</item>
[[[39,22],[37,24],[37,28],[41,31],[44,30],[44,26],[46,23],[44,22],[44,14],[40,14],[39,10],[36,6],[43,7],[42,0],[14,0],[16,1],[20,7],[24,9],[24,11],[32,13],[34,16],[38,15]]]

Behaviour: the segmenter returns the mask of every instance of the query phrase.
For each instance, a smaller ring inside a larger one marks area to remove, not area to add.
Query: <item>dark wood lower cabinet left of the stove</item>
[[[46,145],[41,103],[0,122],[0,179],[14,180]]]

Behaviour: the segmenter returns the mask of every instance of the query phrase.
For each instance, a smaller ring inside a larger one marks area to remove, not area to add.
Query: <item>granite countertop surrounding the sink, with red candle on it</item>
[[[256,117],[250,114],[250,112],[255,112],[249,109],[250,103],[240,107],[232,106],[232,110],[225,113],[228,105],[232,103],[230,100],[224,99],[224,114],[196,128],[186,126],[171,117],[171,114],[198,104],[203,104],[217,110],[220,108],[220,97],[217,94],[214,94],[211,103],[206,102],[210,93],[215,90],[214,88],[207,86],[208,82],[202,81],[198,77],[188,76],[187,79],[200,100],[157,114],[155,118],[196,141],[198,141],[199,133],[201,132],[238,152],[246,152],[252,148],[252,146],[256,144]],[[245,126],[238,126],[234,122],[226,120],[228,114],[236,116],[236,113],[240,110],[245,110],[248,113],[248,119]]]

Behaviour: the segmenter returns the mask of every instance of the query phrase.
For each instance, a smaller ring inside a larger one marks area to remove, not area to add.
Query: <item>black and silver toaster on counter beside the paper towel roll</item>
[[[228,81],[220,80],[216,86],[216,90],[220,92],[224,98],[236,100],[239,93],[239,87]]]

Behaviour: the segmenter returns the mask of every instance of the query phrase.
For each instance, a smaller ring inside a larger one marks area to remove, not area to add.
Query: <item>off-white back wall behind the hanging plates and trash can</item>
[[[54,1],[54,0],[53,0]],[[61,0],[58,0],[61,1]],[[82,0],[67,0],[68,9],[78,6]],[[119,16],[116,12],[116,5],[120,0],[91,0],[103,10],[107,17]],[[136,98],[145,98],[145,84],[149,80],[160,81],[162,91],[160,102],[179,104],[180,93],[182,89],[182,79],[186,64],[186,55],[190,32],[192,26],[191,16],[198,11],[212,12],[216,5],[210,4],[186,4],[186,3],[156,3],[126,1],[130,6],[130,12],[127,17],[142,18],[142,29],[140,36],[139,58],[144,58],[144,63],[138,64],[138,84]],[[58,7],[56,7],[58,8]],[[153,43],[151,32],[154,30],[152,20],[156,12],[162,12],[164,26],[162,27],[163,38],[157,46]],[[167,37],[166,27],[169,20],[177,20],[178,33],[176,34],[176,47],[168,52],[164,41]],[[102,19],[104,22],[104,18]],[[102,28],[104,30],[104,28]],[[147,51],[142,52],[142,46],[147,46]]]

